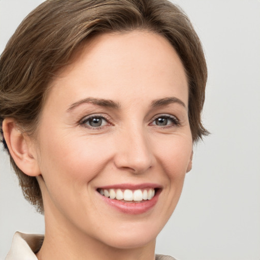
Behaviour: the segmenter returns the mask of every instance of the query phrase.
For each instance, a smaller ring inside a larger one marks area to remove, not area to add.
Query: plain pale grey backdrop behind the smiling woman
[[[0,0],[0,52],[43,1]],[[203,42],[209,69],[204,124],[180,202],[156,252],[182,260],[260,259],[260,2],[176,0]],[[44,233],[0,151],[0,260],[15,231]]]

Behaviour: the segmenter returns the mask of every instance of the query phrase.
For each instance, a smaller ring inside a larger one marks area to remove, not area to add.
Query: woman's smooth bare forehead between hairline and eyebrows
[[[179,98],[188,102],[187,79],[178,54],[168,40],[149,31],[103,34],[87,41],[70,65],[59,71],[50,93],[68,89],[75,99],[86,94],[116,99],[133,92],[148,98],[151,89],[164,98],[181,90]]]

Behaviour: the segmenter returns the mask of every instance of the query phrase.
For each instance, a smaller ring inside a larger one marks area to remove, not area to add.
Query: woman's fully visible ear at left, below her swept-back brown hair
[[[40,175],[35,146],[32,140],[18,129],[13,118],[4,119],[3,132],[17,167],[29,176]]]

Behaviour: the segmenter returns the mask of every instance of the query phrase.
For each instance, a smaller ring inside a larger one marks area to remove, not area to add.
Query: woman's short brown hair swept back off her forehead
[[[189,86],[193,142],[208,132],[201,122],[207,67],[201,42],[184,12],[167,0],[47,0],[19,25],[0,59],[0,123],[12,117],[33,135],[55,72],[93,35],[148,30],[168,39],[182,60]],[[3,131],[1,127],[3,136]],[[8,150],[3,138],[5,148]],[[43,212],[35,177],[10,156],[25,198]]]

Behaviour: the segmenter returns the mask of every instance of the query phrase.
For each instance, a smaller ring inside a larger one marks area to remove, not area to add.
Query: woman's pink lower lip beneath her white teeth
[[[118,200],[111,200],[103,195],[100,196],[106,202],[109,206],[115,208],[116,210],[123,212],[125,214],[131,214],[131,215],[136,215],[136,214],[142,214],[150,209],[152,209],[155,204],[158,201],[160,190],[157,190],[155,193],[155,196],[151,200],[145,200],[142,202],[132,202],[132,203],[125,203],[123,201],[118,201]]]

